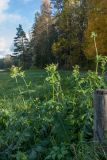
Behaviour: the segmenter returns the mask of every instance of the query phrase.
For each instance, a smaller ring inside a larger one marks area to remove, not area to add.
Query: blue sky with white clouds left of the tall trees
[[[16,27],[28,34],[42,0],[0,0],[0,58],[10,54]]]

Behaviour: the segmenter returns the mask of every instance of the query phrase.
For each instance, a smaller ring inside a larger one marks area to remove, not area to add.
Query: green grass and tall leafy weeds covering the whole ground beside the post
[[[107,159],[93,142],[93,93],[107,87],[106,58],[96,61],[95,72],[58,71],[52,64],[0,73],[1,160]]]

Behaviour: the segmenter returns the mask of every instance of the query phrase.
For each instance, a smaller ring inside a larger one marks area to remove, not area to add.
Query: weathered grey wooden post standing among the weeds
[[[94,140],[107,140],[107,90],[99,89],[94,94]]]

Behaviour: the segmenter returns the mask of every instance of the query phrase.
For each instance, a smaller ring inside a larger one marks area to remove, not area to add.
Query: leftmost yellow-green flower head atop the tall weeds
[[[12,78],[25,77],[25,72],[21,70],[21,67],[12,66],[10,72]]]

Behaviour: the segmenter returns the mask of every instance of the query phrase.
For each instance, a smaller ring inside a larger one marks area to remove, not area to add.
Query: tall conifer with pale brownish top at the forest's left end
[[[35,66],[43,68],[52,63],[54,57],[51,47],[54,41],[54,26],[51,16],[51,5],[49,0],[43,0],[41,13],[36,14],[32,31],[32,52]]]

